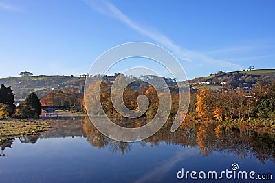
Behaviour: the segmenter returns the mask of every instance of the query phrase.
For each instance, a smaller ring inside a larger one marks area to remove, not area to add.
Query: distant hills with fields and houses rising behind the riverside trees
[[[110,76],[113,80],[114,76]],[[275,69],[258,69],[252,71],[234,71],[224,73],[219,71],[216,74],[210,74],[207,77],[198,77],[189,80],[190,87],[193,89],[200,89],[203,87],[211,88],[212,90],[219,90],[219,88],[237,88],[238,86],[254,86],[257,80],[263,80],[269,84],[275,80]],[[166,79],[169,86],[175,85],[173,80]],[[14,90],[15,100],[21,101],[28,96],[32,91],[42,98],[50,90],[79,90],[83,91],[85,85],[85,77],[72,76],[31,76],[31,77],[8,77],[0,78],[0,84],[11,86]]]

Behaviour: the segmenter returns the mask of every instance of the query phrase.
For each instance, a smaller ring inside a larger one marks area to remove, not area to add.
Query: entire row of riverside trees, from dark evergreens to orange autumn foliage
[[[120,76],[122,77],[122,76]],[[120,80],[120,78],[119,78]],[[126,80],[121,78],[121,80]],[[89,95],[96,92],[100,86],[100,103],[96,103]],[[113,107],[111,93],[112,83],[106,80],[91,82],[86,88],[89,103],[88,108],[97,109],[102,106],[108,117],[122,117],[122,115]],[[146,82],[141,82],[139,86],[129,86],[124,90],[123,102],[130,110],[137,109],[137,97],[146,95],[150,104],[148,110],[142,117],[151,119],[155,117],[159,107],[159,96],[155,87]],[[168,91],[163,91],[159,95],[168,95]],[[172,106],[170,119],[175,118],[179,106],[179,90],[173,90],[170,93]],[[73,88],[67,90],[52,90],[47,93],[41,101],[35,93],[30,93],[27,99],[20,106],[14,106],[14,93],[10,87],[3,84],[0,88],[0,117],[39,117],[42,106],[78,106],[82,112],[85,109],[83,93]],[[122,103],[121,103],[122,104]],[[186,106],[185,106],[186,107]],[[96,112],[96,110],[93,110]],[[245,92],[244,90],[220,91],[215,92],[207,88],[202,88],[198,92],[190,93],[190,104],[188,108],[187,119],[195,121],[245,121],[251,119],[268,119],[269,125],[274,124],[275,119],[275,82],[269,85],[262,80],[258,80],[254,90]]]

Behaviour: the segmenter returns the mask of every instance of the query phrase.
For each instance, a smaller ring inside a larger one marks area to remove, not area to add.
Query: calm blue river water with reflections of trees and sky
[[[272,180],[214,182],[274,182],[275,138],[269,134],[221,126],[169,124],[137,143],[103,136],[89,119],[52,119],[53,128],[40,136],[25,136],[1,145],[0,182],[213,182],[177,178],[184,171],[255,171]],[[133,123],[140,125],[138,121]],[[3,156],[5,154],[5,156]]]

